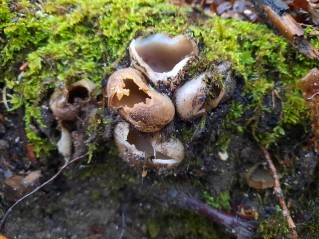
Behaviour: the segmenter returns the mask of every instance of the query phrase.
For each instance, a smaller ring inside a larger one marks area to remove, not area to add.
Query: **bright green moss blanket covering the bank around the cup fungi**
[[[5,84],[12,93],[12,110],[26,108],[29,141],[39,155],[51,150],[52,145],[28,128],[32,120],[41,121],[41,115],[32,112],[49,92],[79,79],[90,79],[99,86],[104,75],[111,74],[126,58],[133,38],[154,32],[192,32],[196,41],[204,44],[193,74],[212,69],[223,60],[231,61],[236,73],[245,79],[243,97],[251,102],[243,111],[253,109],[256,117],[270,110],[263,104],[265,95],[276,85],[283,86],[279,94],[284,117],[272,132],[256,131],[256,139],[262,144],[275,142],[287,125],[300,124],[304,118],[305,104],[294,82],[315,63],[296,54],[266,26],[218,17],[193,23],[189,21],[189,8],[177,8],[164,0],[2,2],[0,86]],[[17,77],[19,72],[12,69],[23,62],[28,62],[29,68]],[[244,125],[233,126],[230,131],[246,129]],[[95,150],[94,146],[91,149]]]

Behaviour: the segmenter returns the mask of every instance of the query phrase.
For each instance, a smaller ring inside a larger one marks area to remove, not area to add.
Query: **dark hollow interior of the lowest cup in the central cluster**
[[[131,145],[134,144],[137,150],[145,152],[152,158],[170,159],[167,155],[157,151],[155,152],[156,155],[154,155],[154,148],[151,145],[151,142],[135,129],[130,129],[127,135],[127,142]]]

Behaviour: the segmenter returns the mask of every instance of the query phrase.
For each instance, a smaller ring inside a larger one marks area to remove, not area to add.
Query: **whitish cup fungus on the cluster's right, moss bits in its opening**
[[[235,87],[231,64],[223,62],[215,72],[204,72],[176,90],[176,111],[183,120],[195,119],[227,100]]]

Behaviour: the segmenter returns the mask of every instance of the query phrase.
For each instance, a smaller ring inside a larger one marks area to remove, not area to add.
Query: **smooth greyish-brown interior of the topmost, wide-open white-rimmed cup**
[[[137,54],[149,67],[158,73],[171,71],[186,56],[193,52],[193,45],[187,38],[178,41],[170,38],[147,38],[136,47]]]

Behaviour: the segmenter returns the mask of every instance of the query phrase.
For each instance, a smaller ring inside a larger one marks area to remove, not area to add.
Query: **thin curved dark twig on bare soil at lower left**
[[[26,198],[28,198],[29,196],[31,196],[33,193],[37,192],[38,190],[40,190],[41,188],[43,188],[45,185],[49,184],[50,182],[52,182],[54,179],[56,179],[60,173],[67,167],[69,166],[70,164],[74,163],[75,161],[78,161],[79,159],[81,158],[84,158],[85,156],[87,156],[88,153],[85,153],[77,158],[74,158],[72,159],[71,161],[69,162],[65,162],[65,164],[59,169],[59,171],[54,174],[50,179],[48,179],[46,182],[44,182],[43,184],[41,184],[40,186],[38,186],[37,188],[35,188],[34,190],[32,190],[31,192],[29,192],[28,194],[24,195],[22,198],[20,198],[18,201],[16,201],[7,211],[6,213],[4,214],[3,218],[1,219],[1,222],[0,222],[0,234],[3,233],[4,231],[4,227],[5,227],[5,224],[6,224],[6,220],[8,218],[8,215],[11,213],[11,211],[20,203],[22,202],[23,200],[25,200]]]

